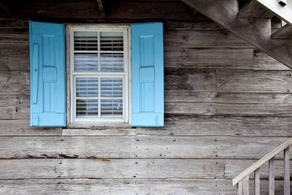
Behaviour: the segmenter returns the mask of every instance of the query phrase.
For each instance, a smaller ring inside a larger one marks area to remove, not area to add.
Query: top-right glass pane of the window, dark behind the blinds
[[[101,51],[123,51],[123,32],[100,32]]]

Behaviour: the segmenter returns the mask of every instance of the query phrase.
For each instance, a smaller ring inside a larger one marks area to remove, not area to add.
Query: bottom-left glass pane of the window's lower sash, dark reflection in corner
[[[98,99],[76,99],[76,116],[98,116]]]

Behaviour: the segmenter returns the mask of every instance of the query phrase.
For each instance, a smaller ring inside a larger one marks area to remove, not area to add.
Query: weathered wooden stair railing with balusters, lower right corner
[[[290,146],[292,138],[262,157],[252,166],[232,179],[233,186],[237,185],[237,195],[249,195],[249,175],[255,174],[255,195],[260,195],[260,166],[269,161],[269,195],[274,195],[274,159],[277,154],[284,151],[284,195],[290,195]]]

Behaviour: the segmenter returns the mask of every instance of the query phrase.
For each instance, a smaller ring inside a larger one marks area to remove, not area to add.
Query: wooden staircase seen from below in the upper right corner
[[[292,68],[292,0],[183,0],[211,20]],[[286,25],[271,33],[271,18]]]

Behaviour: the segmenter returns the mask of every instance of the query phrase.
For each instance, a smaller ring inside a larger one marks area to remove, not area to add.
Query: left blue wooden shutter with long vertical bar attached
[[[29,21],[30,125],[65,126],[64,24]]]

